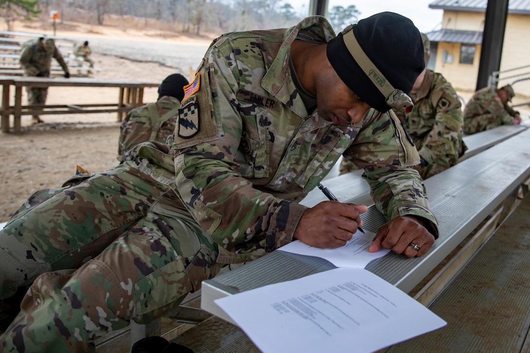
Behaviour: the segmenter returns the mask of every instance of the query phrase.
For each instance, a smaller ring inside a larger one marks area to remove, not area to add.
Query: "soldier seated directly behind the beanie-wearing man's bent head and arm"
[[[430,59],[430,42],[421,33],[425,63]],[[410,98],[414,108],[407,116],[394,112],[403,121],[418,153],[420,164],[414,167],[423,179],[455,165],[467,149],[462,140],[462,104],[451,83],[443,75],[427,67],[418,76]],[[343,158],[340,173],[356,170],[355,164]]]

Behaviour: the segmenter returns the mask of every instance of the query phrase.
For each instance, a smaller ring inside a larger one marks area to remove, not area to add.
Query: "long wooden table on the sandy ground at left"
[[[144,104],[144,89],[158,87],[160,82],[140,82],[134,80],[108,80],[86,77],[23,77],[0,76],[2,85],[2,132],[10,132],[9,117],[13,116],[13,131],[20,132],[22,115],[69,114],[69,113],[107,113],[117,112],[121,121],[123,114]],[[11,86],[14,87],[15,101],[10,105]],[[33,104],[22,105],[23,87],[117,87],[119,90],[117,103],[74,104],[67,102],[60,105]]]

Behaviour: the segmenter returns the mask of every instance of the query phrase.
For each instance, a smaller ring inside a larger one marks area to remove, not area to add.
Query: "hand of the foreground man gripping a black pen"
[[[360,214],[368,209],[364,205],[323,201],[305,210],[294,237],[316,248],[339,248],[346,245],[357,227],[363,225]]]

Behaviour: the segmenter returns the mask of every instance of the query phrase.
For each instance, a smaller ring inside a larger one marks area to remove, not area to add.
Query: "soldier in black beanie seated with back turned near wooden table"
[[[189,82],[181,74],[164,78],[158,87],[158,99],[127,113],[120,125],[118,161],[121,155],[142,142],[165,143],[175,131],[180,101],[184,98],[184,86]]]

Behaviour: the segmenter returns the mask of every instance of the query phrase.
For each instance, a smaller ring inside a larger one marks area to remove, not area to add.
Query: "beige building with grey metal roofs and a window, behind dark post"
[[[427,33],[431,41],[427,66],[443,74],[457,90],[476,88],[487,4],[487,0],[429,4],[444,10],[444,15],[441,29]],[[510,83],[517,95],[530,97],[530,0],[510,0],[504,38],[497,86]]]

